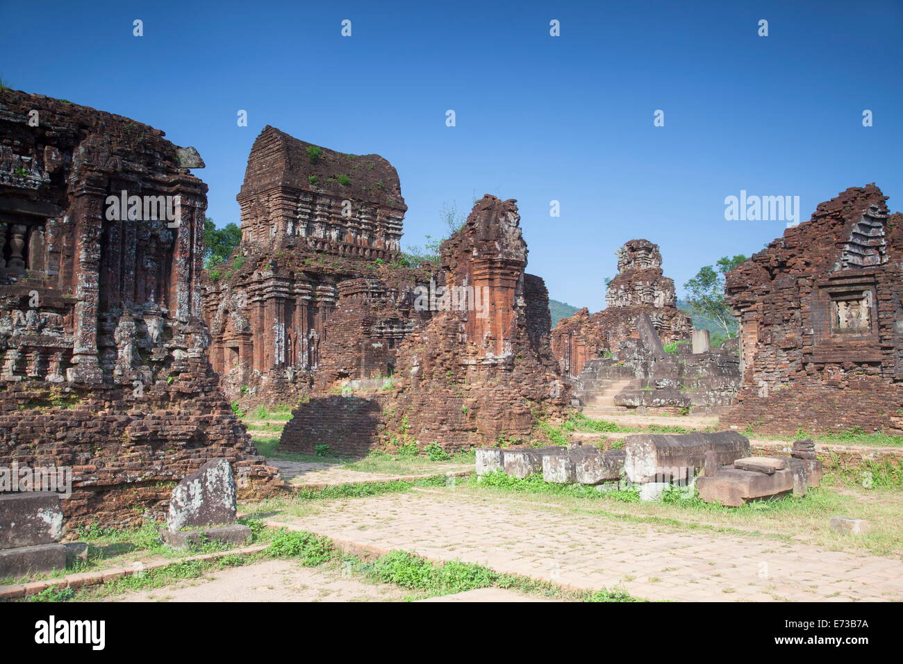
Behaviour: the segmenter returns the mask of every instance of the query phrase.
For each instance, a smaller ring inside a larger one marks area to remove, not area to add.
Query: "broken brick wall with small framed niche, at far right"
[[[852,187],[727,276],[743,385],[722,422],[903,430],[903,215],[886,200]]]

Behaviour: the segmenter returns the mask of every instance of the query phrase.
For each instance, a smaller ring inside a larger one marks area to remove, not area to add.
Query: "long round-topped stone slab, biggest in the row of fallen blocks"
[[[630,482],[687,480],[703,468],[705,453],[715,453],[715,462],[734,463],[750,456],[749,440],[736,431],[682,435],[638,434],[624,439],[627,457],[624,471]]]

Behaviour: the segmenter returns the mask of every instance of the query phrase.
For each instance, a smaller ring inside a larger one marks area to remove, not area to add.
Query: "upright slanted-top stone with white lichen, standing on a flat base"
[[[204,528],[235,521],[236,486],[226,459],[211,459],[172,490],[166,527]]]

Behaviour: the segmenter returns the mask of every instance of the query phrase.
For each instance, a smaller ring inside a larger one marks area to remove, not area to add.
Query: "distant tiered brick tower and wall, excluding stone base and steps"
[[[637,317],[647,313],[663,343],[690,338],[693,322],[675,305],[675,284],[662,273],[662,254],[647,239],[631,239],[619,249],[618,275],[605,294],[607,308],[590,314],[584,307],[552,332],[552,351],[564,376],[575,379],[587,360],[617,351],[636,338]]]

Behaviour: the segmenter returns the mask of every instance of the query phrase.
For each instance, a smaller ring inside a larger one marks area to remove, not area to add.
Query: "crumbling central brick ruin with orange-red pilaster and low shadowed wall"
[[[377,442],[450,450],[526,442],[539,417],[563,413],[568,390],[549,348],[548,293],[525,272],[515,201],[477,201],[441,254],[430,284],[402,298],[413,298],[423,317],[397,347],[394,379],[381,391],[313,396],[285,426],[280,449],[310,453],[329,441],[335,452],[365,454]]]

